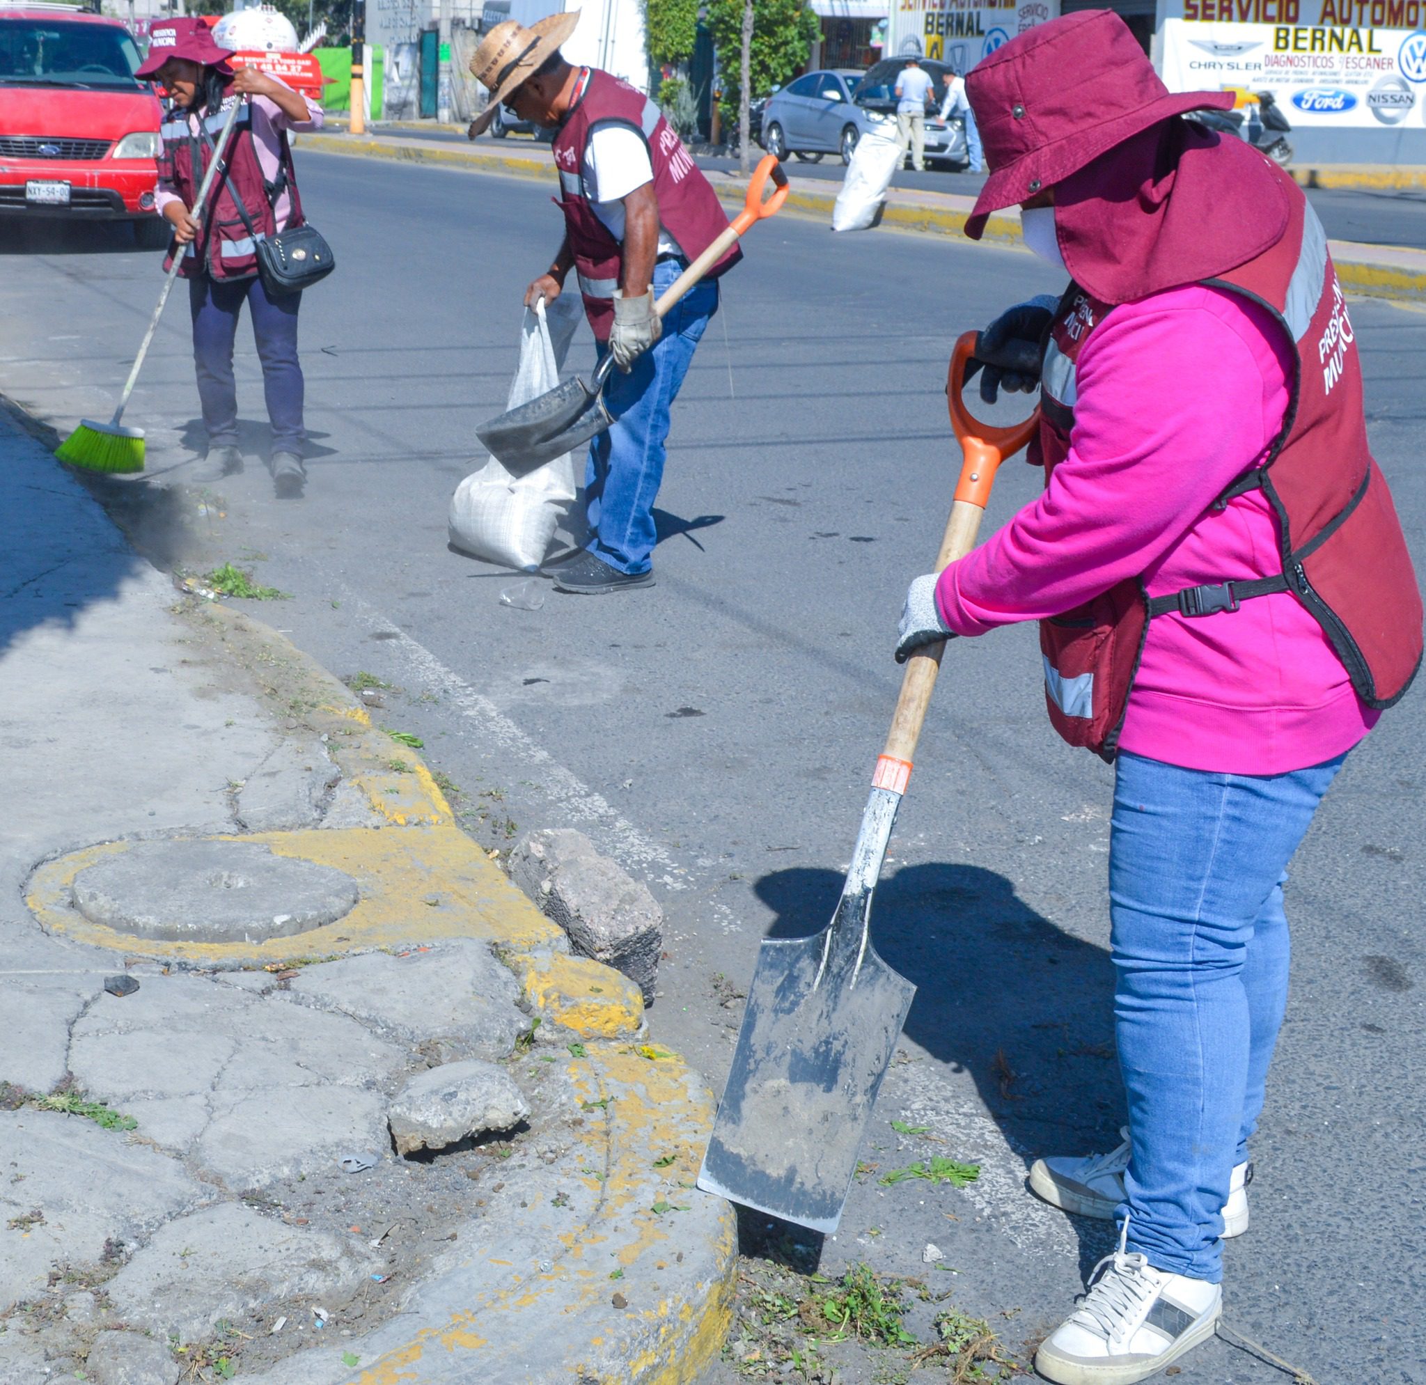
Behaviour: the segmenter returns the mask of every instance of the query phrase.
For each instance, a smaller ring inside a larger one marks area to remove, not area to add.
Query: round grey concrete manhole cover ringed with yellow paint
[[[74,907],[120,933],[261,943],[335,923],[359,899],[331,866],[251,842],[140,842],[74,877]]]

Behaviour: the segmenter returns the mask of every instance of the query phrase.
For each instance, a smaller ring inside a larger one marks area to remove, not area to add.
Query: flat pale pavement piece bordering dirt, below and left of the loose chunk
[[[376,1268],[376,1257],[355,1237],[287,1227],[225,1202],[168,1222],[107,1289],[131,1324],[191,1342],[221,1318],[285,1298],[339,1297]]]

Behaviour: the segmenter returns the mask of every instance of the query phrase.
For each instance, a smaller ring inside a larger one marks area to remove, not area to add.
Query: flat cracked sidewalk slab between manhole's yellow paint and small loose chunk
[[[465,1056],[503,1058],[530,1030],[519,983],[485,943],[459,939],[405,957],[366,953],[294,977],[291,994],[416,1044],[451,1040]]]

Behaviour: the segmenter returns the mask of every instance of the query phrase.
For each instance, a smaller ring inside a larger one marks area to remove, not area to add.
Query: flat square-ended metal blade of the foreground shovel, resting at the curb
[[[871,887],[816,937],[757,953],[699,1187],[831,1232],[915,986],[871,947]]]

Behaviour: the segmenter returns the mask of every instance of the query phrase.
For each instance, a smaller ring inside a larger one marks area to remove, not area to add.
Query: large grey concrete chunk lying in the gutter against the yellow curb
[[[511,879],[583,957],[637,983],[645,1003],[663,949],[663,910],[649,887],[570,827],[532,832],[511,853]]]

